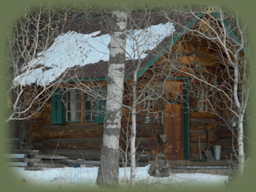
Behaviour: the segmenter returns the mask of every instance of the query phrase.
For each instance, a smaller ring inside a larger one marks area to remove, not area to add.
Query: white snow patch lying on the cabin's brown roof
[[[175,28],[171,22],[128,31],[126,61],[137,60],[139,57],[137,52],[141,59],[146,58],[148,51],[155,49],[173,31]],[[109,43],[110,34],[101,34],[101,31],[94,31],[90,34],[81,34],[76,31],[63,33],[48,49],[37,54],[36,58],[23,67],[23,73],[14,78],[14,84],[46,86],[67,69],[108,61]]]

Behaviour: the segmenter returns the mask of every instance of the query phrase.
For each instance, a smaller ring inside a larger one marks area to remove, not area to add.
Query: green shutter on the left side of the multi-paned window
[[[65,108],[61,101],[62,94],[53,94],[51,97],[51,122],[52,124],[65,123]]]

